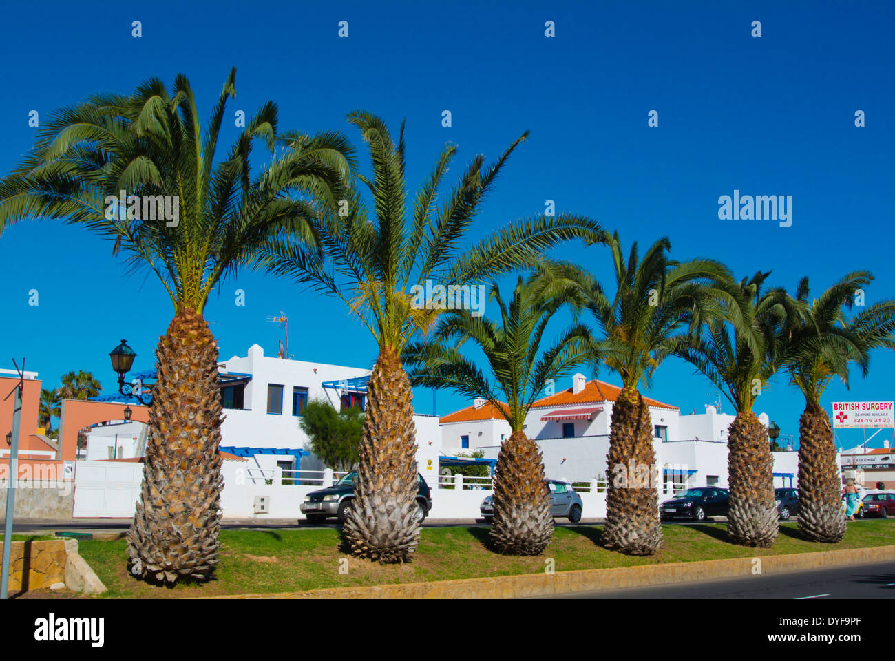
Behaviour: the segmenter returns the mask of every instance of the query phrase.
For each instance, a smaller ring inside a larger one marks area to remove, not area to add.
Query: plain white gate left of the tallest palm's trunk
[[[131,519],[140,500],[143,464],[78,461],[74,469],[74,517]]]

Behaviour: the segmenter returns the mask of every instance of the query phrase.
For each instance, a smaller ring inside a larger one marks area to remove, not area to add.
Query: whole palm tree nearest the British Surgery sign
[[[895,348],[895,301],[871,305],[850,318],[843,311],[873,279],[865,270],[848,273],[814,300],[808,279],[801,279],[796,299],[803,311],[788,320],[785,331],[786,370],[805,396],[798,424],[798,527],[818,542],[839,542],[846,530],[836,445],[821,396],[836,376],[848,387],[851,365],[866,376],[872,348]]]

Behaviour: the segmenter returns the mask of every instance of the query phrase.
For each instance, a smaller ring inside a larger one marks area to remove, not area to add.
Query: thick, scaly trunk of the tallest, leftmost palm
[[[127,533],[135,576],[207,579],[220,548],[221,434],[217,343],[192,310],[158,341],[141,502]]]

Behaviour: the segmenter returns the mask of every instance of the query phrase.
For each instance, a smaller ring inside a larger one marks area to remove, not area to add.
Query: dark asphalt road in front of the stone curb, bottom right
[[[895,562],[577,592],[565,599],[895,599]]]

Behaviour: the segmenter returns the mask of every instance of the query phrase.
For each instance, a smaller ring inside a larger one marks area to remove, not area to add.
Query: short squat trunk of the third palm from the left
[[[550,537],[553,517],[541,451],[515,431],[500,446],[494,472],[491,540],[503,554],[540,555]]]

